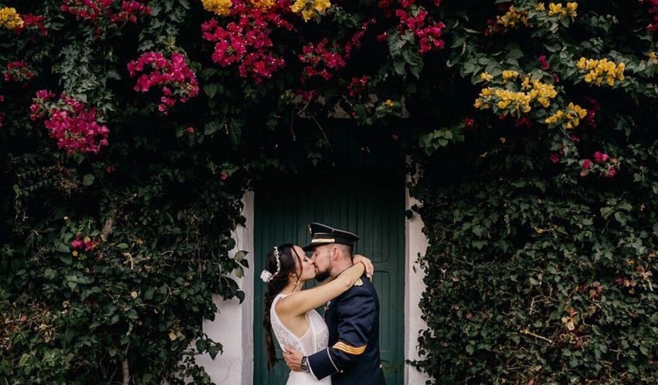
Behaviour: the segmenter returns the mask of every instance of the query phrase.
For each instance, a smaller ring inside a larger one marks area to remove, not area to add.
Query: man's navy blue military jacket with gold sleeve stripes
[[[360,281],[332,300],[325,311],[329,346],[309,356],[317,379],[334,385],[384,385],[379,361],[379,297],[370,279]]]

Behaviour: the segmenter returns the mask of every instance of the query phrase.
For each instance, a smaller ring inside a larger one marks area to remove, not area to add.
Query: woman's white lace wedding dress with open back
[[[329,342],[329,330],[322,316],[315,310],[307,311],[306,321],[309,323],[309,330],[302,337],[297,337],[293,332],[286,328],[279,316],[276,315],[276,302],[287,294],[278,294],[272,301],[272,307],[269,309],[269,320],[272,321],[272,331],[279,341],[281,348],[291,346],[301,351],[304,356],[310,356],[316,351],[327,348]],[[312,374],[304,372],[290,372],[286,385],[330,385],[331,377],[325,377],[317,380]]]

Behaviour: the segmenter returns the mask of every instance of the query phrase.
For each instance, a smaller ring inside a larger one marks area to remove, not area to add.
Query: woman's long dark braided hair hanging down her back
[[[274,274],[277,269],[274,248],[267,253],[267,259],[265,260],[265,269],[274,274],[269,281],[267,281],[267,290],[265,290],[265,309],[263,311],[265,314],[262,318],[262,325],[265,326],[265,347],[267,348],[268,369],[271,369],[276,363],[276,351],[274,350],[274,339],[272,339],[272,321],[269,319],[269,309],[272,307],[274,297],[281,293],[281,290],[283,290],[288,284],[288,276],[290,273],[297,276],[297,279],[300,278],[299,273],[297,273],[297,269],[295,268],[293,255],[297,257],[297,262],[300,266],[302,265],[302,258],[297,255],[293,246],[293,244],[282,244],[278,247],[279,262],[281,263],[281,269],[278,273]]]

